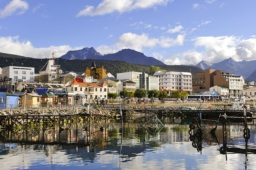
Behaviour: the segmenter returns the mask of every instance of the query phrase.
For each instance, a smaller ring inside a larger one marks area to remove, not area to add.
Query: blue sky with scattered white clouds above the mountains
[[[169,65],[256,59],[256,1],[0,0],[0,52],[60,57],[124,48]]]

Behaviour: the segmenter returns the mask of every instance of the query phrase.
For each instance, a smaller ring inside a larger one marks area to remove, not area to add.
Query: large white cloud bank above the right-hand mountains
[[[217,63],[232,57],[235,61],[249,61],[256,57],[256,38],[241,40],[241,37],[197,37],[192,39],[195,49],[183,53],[170,54],[165,57],[158,56],[157,59],[166,64],[197,64],[202,60]],[[198,52],[197,47],[205,50]]]

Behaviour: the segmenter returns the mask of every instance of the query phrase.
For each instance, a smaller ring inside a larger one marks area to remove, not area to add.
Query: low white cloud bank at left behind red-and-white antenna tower
[[[72,48],[69,45],[50,46],[47,48],[35,48],[30,41],[19,41],[19,36],[0,37],[0,51],[8,54],[22,55],[33,58],[51,58],[52,48],[56,48],[56,56],[61,57],[70,50],[83,48]]]

